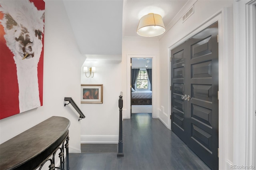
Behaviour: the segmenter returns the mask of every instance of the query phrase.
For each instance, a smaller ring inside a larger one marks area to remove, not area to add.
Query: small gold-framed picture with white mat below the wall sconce
[[[81,103],[103,103],[103,85],[81,85]]]

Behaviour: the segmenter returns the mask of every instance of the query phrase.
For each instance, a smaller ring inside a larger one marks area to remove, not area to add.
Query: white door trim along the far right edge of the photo
[[[256,164],[256,0],[234,3],[234,164]],[[241,57],[243,56],[243,57]],[[244,93],[238,92],[243,90]],[[239,107],[240,106],[240,107]],[[244,117],[241,117],[244,113]],[[245,152],[244,152],[245,151]],[[249,168],[248,168],[249,169]]]

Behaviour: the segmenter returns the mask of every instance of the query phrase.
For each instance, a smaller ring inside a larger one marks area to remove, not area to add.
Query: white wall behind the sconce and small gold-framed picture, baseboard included
[[[103,84],[103,103],[81,104],[86,116],[81,121],[81,143],[117,143],[122,65],[114,61],[85,61],[84,66],[95,66],[96,72],[93,78],[86,77],[81,67],[81,84]]]

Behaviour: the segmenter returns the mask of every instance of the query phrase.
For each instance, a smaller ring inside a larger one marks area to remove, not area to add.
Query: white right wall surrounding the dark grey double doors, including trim
[[[225,169],[226,164],[233,161],[233,104],[224,96],[233,97],[233,1],[198,0],[194,4],[194,14],[184,23],[178,20],[160,40],[160,88],[159,106],[166,108],[168,115],[160,113],[159,117],[170,128],[170,99],[166,92],[170,91],[170,49],[184,42],[214,22],[219,22],[219,168]],[[189,7],[188,7],[189,8]],[[187,8],[184,8],[187,9]],[[181,11],[185,14],[186,11]],[[166,78],[167,77],[167,78]],[[170,96],[170,94],[168,95]],[[228,162],[228,163],[227,163]]]

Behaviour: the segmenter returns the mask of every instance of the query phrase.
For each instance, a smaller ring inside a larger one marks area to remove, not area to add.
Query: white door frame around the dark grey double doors
[[[228,29],[228,24],[230,24],[230,19],[227,15],[227,9],[224,8],[210,17],[208,20],[203,22],[198,28],[192,30],[187,36],[180,39],[178,42],[174,43],[168,48],[168,56],[171,57],[171,50],[180,45],[181,43],[188,40],[188,38],[194,36],[198,32],[204,30],[208,26],[218,22],[218,35],[219,35],[219,58],[218,58],[218,71],[219,71],[219,168],[226,169],[227,167],[226,160],[229,158],[229,153],[232,152],[232,148],[230,148],[230,142],[233,142],[233,134],[230,133],[233,128],[233,124],[231,121],[227,121],[228,117],[232,117],[230,110],[233,110],[233,104],[229,103],[226,100],[226,96],[230,96],[232,98],[233,89],[230,89],[230,86],[233,84],[233,70],[232,63],[230,63],[230,59],[232,61],[232,47],[228,44],[228,38],[232,37],[230,35],[230,30]],[[225,24],[224,24],[225,23]],[[231,24],[233,24],[231,22]],[[231,52],[230,52],[231,51]],[[228,57],[227,57],[228,56]],[[171,73],[171,63],[169,63],[168,72]],[[226,73],[225,77],[221,73]],[[171,78],[168,77],[169,87],[171,86]],[[171,103],[171,91],[168,94],[168,103]],[[228,114],[223,114],[228,113]],[[171,105],[168,105],[168,117],[171,115]],[[171,128],[171,120],[168,121],[168,127]],[[230,168],[230,167],[229,167]]]

